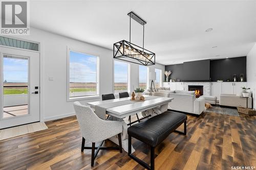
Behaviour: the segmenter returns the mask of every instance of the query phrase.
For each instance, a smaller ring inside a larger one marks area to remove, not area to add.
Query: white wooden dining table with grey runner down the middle
[[[106,114],[109,114],[111,116],[114,116],[114,118],[116,118],[114,120],[123,121],[122,148],[124,149],[125,152],[128,152],[127,128],[129,128],[129,126],[127,126],[124,123],[123,118],[130,115],[134,115],[142,111],[156,108],[158,106],[168,104],[173,100],[173,98],[164,98],[160,96],[144,95],[144,97],[145,97],[145,101],[143,102],[131,101],[131,97],[129,97],[129,98],[121,98],[121,99],[87,103],[87,105],[89,105],[92,109],[95,109],[95,107],[102,107],[105,109]],[[110,140],[118,144],[118,138],[116,136],[111,137]],[[135,150],[132,147],[132,153],[134,151]]]

